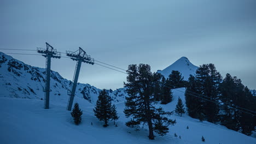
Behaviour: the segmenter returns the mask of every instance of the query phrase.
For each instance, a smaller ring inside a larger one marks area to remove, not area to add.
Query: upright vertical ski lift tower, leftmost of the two
[[[50,77],[51,77],[51,58],[61,58],[60,52],[57,52],[53,46],[46,43],[46,49],[37,47],[37,52],[42,53],[42,56],[46,58],[46,82],[44,88],[44,109],[49,109],[49,101],[50,101]]]

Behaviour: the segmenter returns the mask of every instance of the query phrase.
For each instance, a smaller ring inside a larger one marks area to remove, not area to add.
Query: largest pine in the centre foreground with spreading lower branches
[[[129,65],[127,73],[129,75],[124,85],[129,96],[126,97],[124,113],[126,117],[131,117],[131,120],[126,122],[127,127],[139,130],[141,124],[147,125],[150,140],[154,140],[153,131],[165,135],[168,133],[168,125],[173,125],[176,121],[165,117],[171,115],[171,112],[154,106],[155,73],[150,72],[150,66],[147,64]]]

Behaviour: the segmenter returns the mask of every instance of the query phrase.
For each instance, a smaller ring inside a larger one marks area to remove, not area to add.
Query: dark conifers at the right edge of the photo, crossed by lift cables
[[[255,98],[252,93],[242,84],[240,79],[232,77],[230,74],[226,74],[223,83],[220,85],[220,93],[221,100],[229,104],[221,107],[224,111],[220,115],[222,124],[229,129],[251,135],[256,126],[254,123],[256,119],[248,113],[238,111],[232,105],[255,111]]]

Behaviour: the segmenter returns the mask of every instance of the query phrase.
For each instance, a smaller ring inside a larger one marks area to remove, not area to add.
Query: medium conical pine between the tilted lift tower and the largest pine
[[[103,89],[98,95],[94,113],[100,121],[104,121],[103,127],[107,127],[109,119],[112,118],[112,105],[111,97],[109,97],[106,89]]]

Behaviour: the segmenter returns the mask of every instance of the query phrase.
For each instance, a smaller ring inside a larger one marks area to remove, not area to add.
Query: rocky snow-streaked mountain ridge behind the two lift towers
[[[45,69],[31,67],[11,56],[0,52],[0,97],[44,99]],[[67,91],[72,87],[72,81],[63,79],[56,71],[51,71],[50,101],[67,103]],[[75,95],[90,103],[96,103],[101,89],[84,83],[78,83]],[[108,90],[115,102],[124,101],[124,88],[115,91]]]

